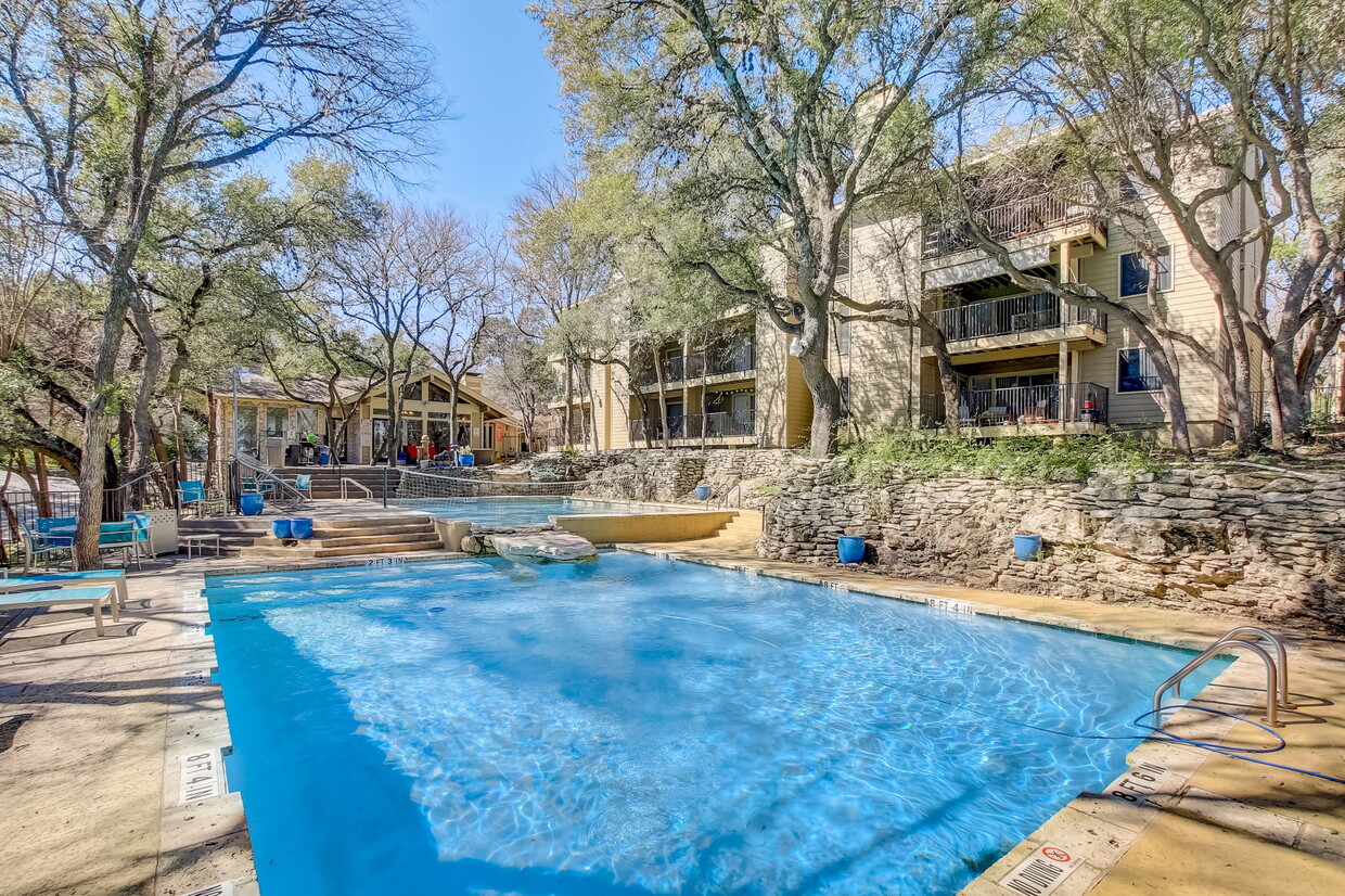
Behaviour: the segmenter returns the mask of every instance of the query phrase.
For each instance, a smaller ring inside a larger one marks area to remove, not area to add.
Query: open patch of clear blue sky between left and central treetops
[[[409,4],[456,117],[433,130],[433,167],[412,175],[421,186],[406,199],[494,218],[508,213],[529,174],[565,160],[560,82],[525,1]]]

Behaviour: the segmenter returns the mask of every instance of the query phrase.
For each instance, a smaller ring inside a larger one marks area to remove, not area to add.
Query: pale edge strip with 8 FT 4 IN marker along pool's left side
[[[206,576],[190,573],[176,589],[182,631],[168,654],[163,810],[156,896],[257,896],[242,796],[229,790],[225,757],[231,737],[223,690],[214,679],[214,639]]]

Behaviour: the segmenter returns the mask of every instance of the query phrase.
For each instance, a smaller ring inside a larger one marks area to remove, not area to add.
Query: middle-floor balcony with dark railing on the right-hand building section
[[[940,308],[931,318],[955,354],[1063,340],[1107,342],[1106,312],[1067,305],[1049,292]]]

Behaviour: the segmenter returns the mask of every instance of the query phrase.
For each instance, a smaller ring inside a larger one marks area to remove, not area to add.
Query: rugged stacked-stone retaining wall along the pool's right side
[[[1345,475],[1167,470],[1013,486],[967,476],[876,486],[841,460],[791,457],[765,515],[763,557],[835,562],[837,535],[869,539],[897,576],[1254,616],[1345,631]],[[1013,556],[1041,534],[1038,561]]]

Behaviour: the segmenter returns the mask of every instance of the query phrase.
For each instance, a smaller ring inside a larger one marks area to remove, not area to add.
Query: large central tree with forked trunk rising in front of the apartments
[[[795,336],[812,451],[841,418],[826,347],[855,209],[902,191],[974,85],[971,4],[546,0],[572,137],[706,222],[670,257]],[[986,8],[985,16],[997,15]],[[985,31],[989,34],[989,30]]]

